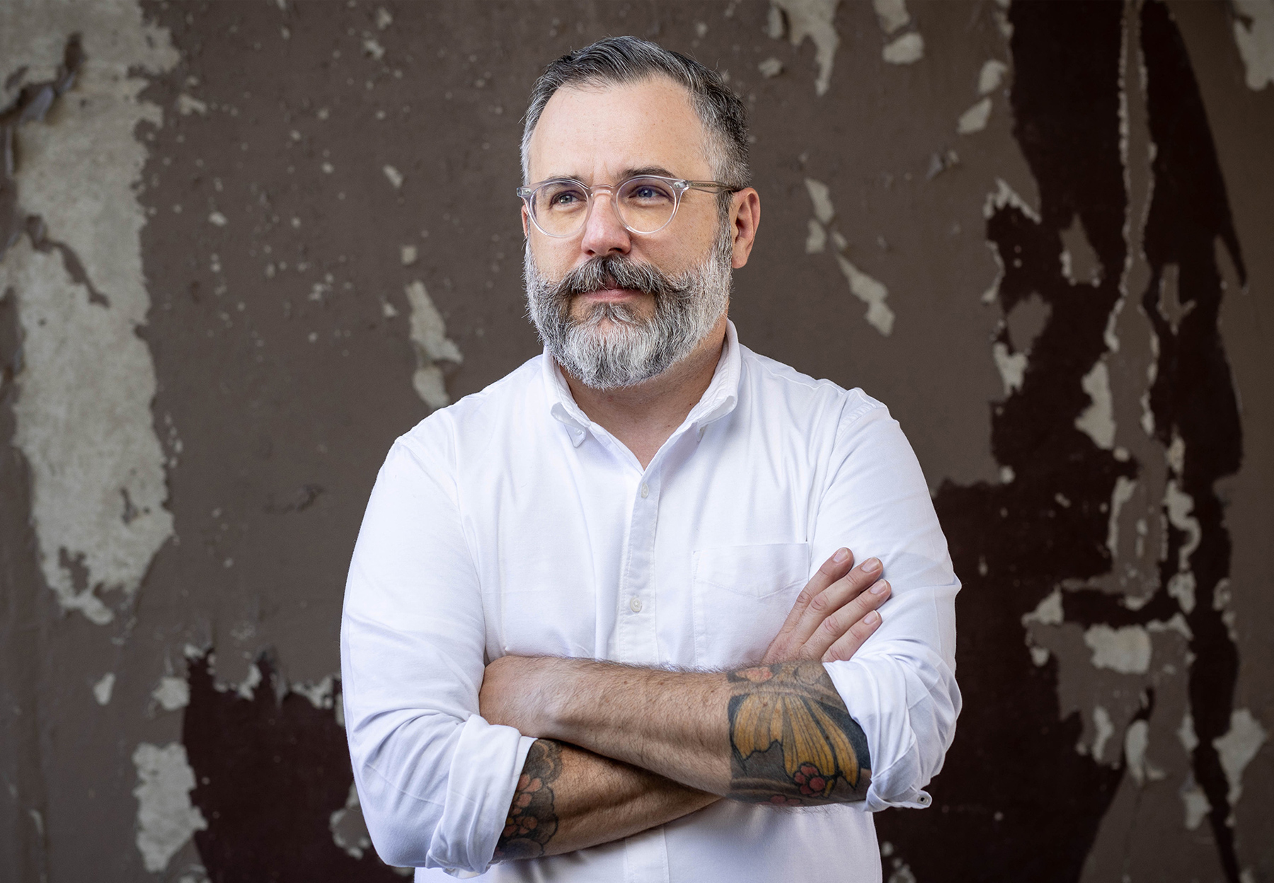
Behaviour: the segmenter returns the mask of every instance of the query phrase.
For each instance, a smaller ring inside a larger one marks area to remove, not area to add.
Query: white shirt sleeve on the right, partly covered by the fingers
[[[818,507],[814,561],[845,545],[875,556],[893,589],[852,659],[826,669],[866,735],[871,785],[857,807],[927,807],[961,710],[956,592],[947,539],[911,445],[888,409],[850,392]]]

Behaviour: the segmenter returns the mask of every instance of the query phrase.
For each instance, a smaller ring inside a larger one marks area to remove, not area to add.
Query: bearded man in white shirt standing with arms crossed
[[[929,803],[959,582],[884,406],[738,341],[747,145],[634,38],[535,85],[545,352],[395,442],[345,596],[363,813],[418,880],[879,880],[864,810]]]

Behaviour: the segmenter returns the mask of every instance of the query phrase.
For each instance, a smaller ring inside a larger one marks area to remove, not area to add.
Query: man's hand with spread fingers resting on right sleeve
[[[838,549],[796,596],[762,664],[852,656],[880,626],[877,608],[888,600],[889,584],[879,577],[878,558],[854,567],[854,553]]]

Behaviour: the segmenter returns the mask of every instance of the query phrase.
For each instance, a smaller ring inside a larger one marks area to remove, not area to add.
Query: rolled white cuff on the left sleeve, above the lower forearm
[[[534,738],[524,736],[512,726],[488,724],[479,715],[465,721],[452,756],[446,807],[429,844],[427,868],[483,873],[490,866],[533,742]]]

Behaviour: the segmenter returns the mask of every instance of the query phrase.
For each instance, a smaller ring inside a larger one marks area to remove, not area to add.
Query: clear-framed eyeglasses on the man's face
[[[638,175],[617,185],[598,183],[591,187],[575,178],[552,178],[519,187],[517,195],[526,203],[526,213],[538,231],[544,236],[564,238],[583,229],[592,210],[592,197],[599,190],[610,191],[610,204],[629,232],[650,234],[671,223],[687,190],[721,194],[736,192],[738,187],[719,181]]]

